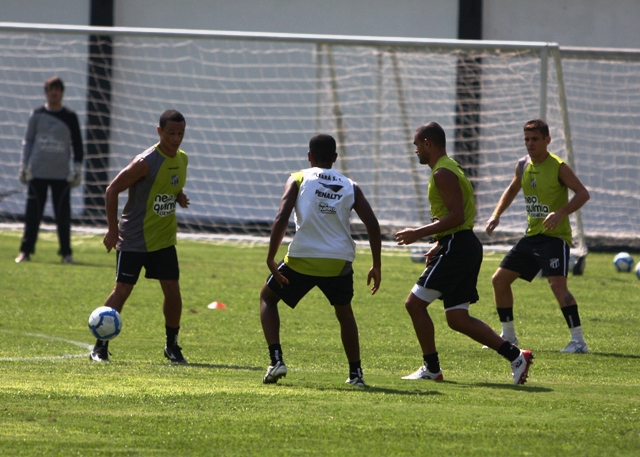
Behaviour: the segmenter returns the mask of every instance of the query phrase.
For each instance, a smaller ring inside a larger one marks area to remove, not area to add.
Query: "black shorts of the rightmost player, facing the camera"
[[[570,251],[569,244],[560,238],[526,236],[507,253],[500,267],[520,273],[529,282],[540,270],[544,276],[567,276]]]

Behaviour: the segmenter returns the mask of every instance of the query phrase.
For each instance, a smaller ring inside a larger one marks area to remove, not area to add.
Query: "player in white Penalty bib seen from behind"
[[[260,292],[260,320],[269,346],[271,363],[263,378],[273,384],[287,375],[280,344],[278,302],[295,308],[314,287],[318,287],[333,306],[340,335],[349,362],[347,383],[366,387],[360,362],[358,325],[351,308],[355,242],[349,217],[354,210],[364,223],[369,237],[373,265],[367,284],[373,281],[375,294],[381,280],[381,235],[378,220],[358,185],[334,170],[338,154],[330,135],[316,135],[309,141],[307,158],[311,164],[292,173],[284,189],[271,237],[267,266],[271,275]],[[289,217],[295,212],[296,233],[287,255],[275,261],[286,233]]]

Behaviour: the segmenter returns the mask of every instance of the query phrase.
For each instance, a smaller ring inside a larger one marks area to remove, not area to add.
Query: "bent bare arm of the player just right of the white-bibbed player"
[[[434,173],[433,178],[449,213],[431,224],[417,229],[407,228],[396,233],[396,241],[401,246],[415,243],[421,238],[445,232],[464,223],[464,200],[456,175],[445,168],[440,168]]]

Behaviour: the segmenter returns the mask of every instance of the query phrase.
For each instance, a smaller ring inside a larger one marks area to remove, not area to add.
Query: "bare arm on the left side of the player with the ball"
[[[102,240],[107,252],[111,252],[118,243],[118,195],[147,176],[147,162],[136,157],[116,176],[105,192],[105,211],[107,213],[107,233]]]

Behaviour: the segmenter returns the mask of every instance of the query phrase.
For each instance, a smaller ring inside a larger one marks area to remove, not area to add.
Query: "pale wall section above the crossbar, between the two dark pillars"
[[[457,0],[115,0],[116,25],[456,38]]]

